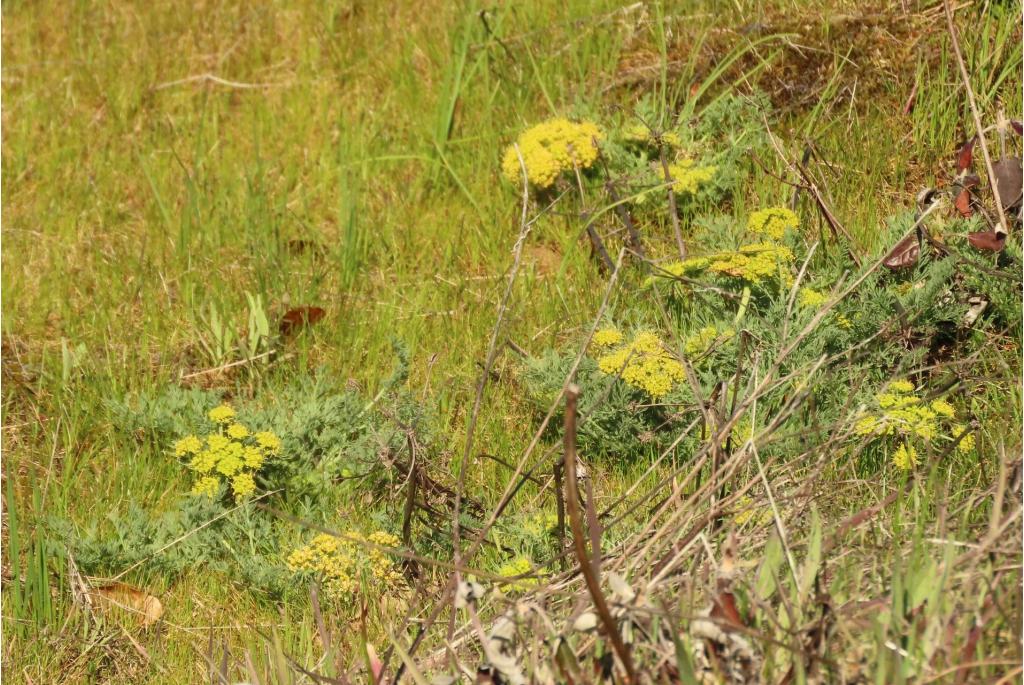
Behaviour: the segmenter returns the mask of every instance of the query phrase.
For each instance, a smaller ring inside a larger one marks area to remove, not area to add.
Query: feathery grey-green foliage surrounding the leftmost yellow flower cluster
[[[394,348],[395,371],[373,400],[321,378],[299,380],[253,402],[234,402],[241,422],[270,430],[282,441],[280,457],[267,460],[258,475],[258,491],[268,494],[261,504],[331,524],[339,501],[377,496],[382,485],[402,476],[396,465],[408,463],[410,439],[419,446],[419,468],[432,468],[436,419],[403,389],[409,352],[400,342]],[[174,440],[206,427],[207,412],[219,401],[211,392],[170,387],[111,402],[110,410],[122,439],[153,441],[173,460]],[[388,511],[388,501],[382,504],[370,516],[375,527],[397,527],[398,514]],[[294,586],[283,564],[283,545],[294,544],[294,527],[252,502],[234,506],[182,494],[162,512],[131,505],[84,529],[67,520],[50,521],[50,527],[90,574],[137,566],[173,581],[188,571],[213,571],[267,597],[281,597]]]

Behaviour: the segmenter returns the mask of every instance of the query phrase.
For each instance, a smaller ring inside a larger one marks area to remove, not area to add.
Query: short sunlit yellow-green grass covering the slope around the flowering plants
[[[262,298],[271,327],[294,306],[328,313],[273,362],[198,383],[239,402],[266,401],[315,373],[351,380],[373,397],[391,373],[397,338],[411,349],[408,388],[439,408],[443,459],[435,466],[455,482],[518,231],[519,192],[501,180],[500,156],[525,125],[567,112],[614,120],[642,91],[666,108],[699,109],[755,82],[775,101],[772,129],[786,155],[799,158],[813,140],[836,167],[815,168],[837,216],[865,249],[881,249],[884,218],[911,206],[921,186],[948,178],[955,145],[973,131],[941,13],[910,3],[913,16],[890,8],[876,23],[856,18],[873,16],[860,3],[720,4],[5,3],[4,675],[195,681],[208,678],[211,640],[230,646],[232,663],[250,648],[259,668],[280,667],[280,655],[265,651],[271,634],[299,660],[313,653],[317,629],[301,602],[274,605],[213,572],[169,583],[139,570],[126,580],[166,607],[161,632],[133,638],[141,656],[121,632],[72,609],[67,568],[54,561],[66,541],[45,524],[68,518],[103,528],[110,512],[166,509],[187,488],[169,445],[123,434],[110,402],[217,366],[223,359],[200,342],[215,337],[211,307],[243,331],[247,296]],[[987,117],[999,106],[1021,115],[1019,15],[1014,3],[959,13]],[[760,33],[744,33],[755,25]],[[904,47],[906,37],[920,54]],[[735,62],[716,72],[729,55]],[[204,74],[236,85],[181,82]],[[701,95],[695,101],[691,87]],[[776,159],[764,162],[781,169]],[[749,206],[791,192],[761,172],[745,188]],[[298,240],[322,251],[291,250]],[[503,339],[535,354],[577,339],[603,281],[579,222],[545,217]],[[634,305],[616,295],[611,307]],[[1019,349],[1008,354],[1019,363]],[[536,426],[515,361],[500,355],[476,429],[480,451],[510,463]],[[989,421],[985,454],[999,444],[1019,453],[1020,391],[1008,381],[1019,368],[983,363],[973,373],[993,380],[973,401]],[[596,487],[610,498],[642,470],[599,469]],[[994,457],[963,469],[974,515],[988,516],[997,471]],[[478,460],[466,493],[493,506],[509,475]],[[822,513],[830,523],[873,503],[849,476],[824,476],[849,488],[847,510]],[[948,486],[919,479],[912,497],[886,513],[891,537],[912,543],[910,559],[876,549],[872,537],[851,544],[849,566],[835,572],[866,569],[882,588],[907,583],[914,564],[934,557],[924,541]],[[513,509],[529,511],[535,493],[527,488]],[[336,504],[339,516],[369,520],[358,503]],[[974,534],[972,509],[957,514],[946,521],[949,537]],[[502,559],[485,549],[479,563],[495,568]],[[1019,554],[1010,561],[1019,567]],[[979,573],[958,592],[977,600],[991,576]],[[902,601],[897,590],[892,597]],[[1008,603],[1019,617],[1019,596]],[[1018,654],[1011,643],[1019,634],[985,640],[979,655],[988,647]]]

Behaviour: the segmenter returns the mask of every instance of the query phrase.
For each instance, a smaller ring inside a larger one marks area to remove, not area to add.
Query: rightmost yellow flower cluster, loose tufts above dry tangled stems
[[[918,447],[922,445],[945,441],[955,442],[959,454],[974,449],[974,434],[957,421],[953,405],[944,399],[926,401],[909,381],[890,383],[885,392],[876,395],[873,404],[856,423],[854,432],[895,445],[892,463],[901,471],[921,463]]]

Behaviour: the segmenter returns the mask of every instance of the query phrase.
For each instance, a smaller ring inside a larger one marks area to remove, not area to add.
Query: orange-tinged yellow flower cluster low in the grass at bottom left
[[[378,547],[364,544],[368,542]],[[371,585],[374,594],[399,586],[402,576],[397,564],[379,547],[400,545],[395,536],[383,531],[369,537],[357,532],[344,538],[319,534],[289,554],[286,564],[293,573],[313,573],[329,598],[344,601],[355,594],[360,583]]]

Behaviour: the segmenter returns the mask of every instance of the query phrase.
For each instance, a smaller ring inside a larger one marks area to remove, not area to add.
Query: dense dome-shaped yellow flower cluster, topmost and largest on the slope
[[[551,119],[524,131],[516,143],[526,165],[526,178],[539,187],[551,187],[560,174],[573,167],[587,169],[597,161],[595,140],[604,133],[591,122]],[[515,146],[509,145],[502,159],[502,173],[513,183],[522,179]]]

